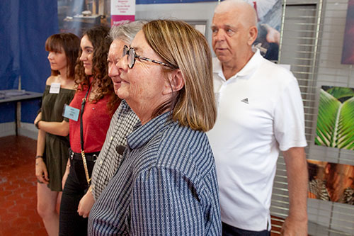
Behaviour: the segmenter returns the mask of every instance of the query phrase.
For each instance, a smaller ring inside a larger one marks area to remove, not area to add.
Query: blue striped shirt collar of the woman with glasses
[[[131,149],[137,149],[144,146],[157,133],[165,130],[173,123],[170,118],[170,112],[166,112],[150,120],[145,125],[140,122],[135,126],[134,131],[127,136],[127,145]]]

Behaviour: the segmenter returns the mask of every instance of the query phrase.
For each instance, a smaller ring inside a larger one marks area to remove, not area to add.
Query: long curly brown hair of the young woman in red
[[[110,96],[107,106],[112,115],[115,108],[118,107],[120,99],[115,94],[112,80],[108,77],[107,56],[110,43],[112,43],[108,36],[109,30],[110,28],[107,26],[94,26],[84,33],[93,45],[92,74],[85,74],[84,63],[80,60],[82,54],[82,49],[80,49],[79,57],[76,60],[75,84],[76,89],[80,90],[85,86],[89,86],[90,78],[93,77],[91,85],[97,84],[98,86],[93,102],[102,99],[106,94]]]

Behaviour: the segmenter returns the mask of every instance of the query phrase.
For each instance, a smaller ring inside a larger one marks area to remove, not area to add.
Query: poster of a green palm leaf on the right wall
[[[315,144],[354,150],[354,89],[321,86]]]

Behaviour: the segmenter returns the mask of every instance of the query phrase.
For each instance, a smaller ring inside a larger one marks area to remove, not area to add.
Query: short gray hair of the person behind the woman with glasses
[[[132,21],[119,26],[113,26],[110,29],[109,36],[112,40],[122,40],[129,45],[145,23],[147,21]]]

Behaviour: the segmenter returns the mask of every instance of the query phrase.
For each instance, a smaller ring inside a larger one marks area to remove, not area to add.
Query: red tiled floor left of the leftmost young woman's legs
[[[36,141],[0,137],[0,236],[47,235],[36,211]]]

